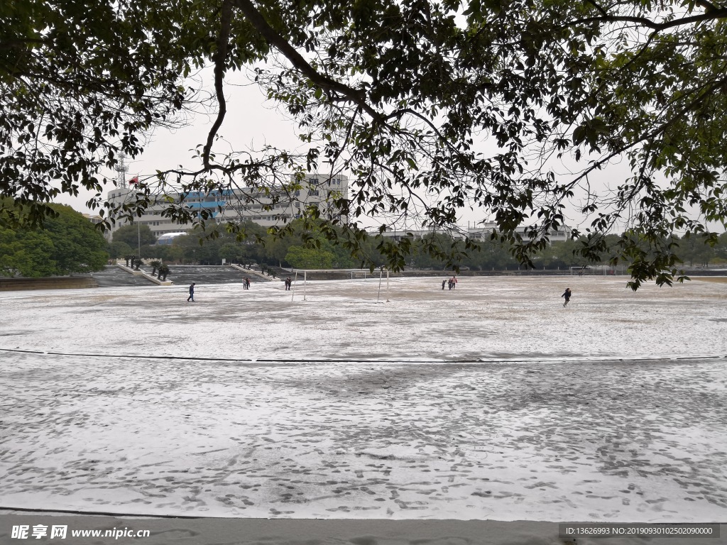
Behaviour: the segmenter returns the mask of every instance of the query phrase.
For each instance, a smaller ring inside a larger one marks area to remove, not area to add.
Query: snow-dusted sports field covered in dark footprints
[[[625,282],[4,292],[1,506],[727,520],[727,283]]]

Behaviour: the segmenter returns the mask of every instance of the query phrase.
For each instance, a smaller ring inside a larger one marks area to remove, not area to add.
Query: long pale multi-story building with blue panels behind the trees
[[[119,168],[117,168],[119,170]],[[125,170],[120,170],[121,175]],[[114,205],[133,202],[136,186],[133,181],[126,183],[119,178],[116,188],[108,193],[108,201]],[[134,219],[140,225],[147,225],[155,236],[167,233],[180,233],[192,229],[190,224],[180,224],[164,217],[164,209],[171,203],[183,203],[191,211],[207,211],[210,219],[206,222],[217,223],[255,222],[263,227],[281,225],[300,217],[309,206],[317,206],[321,214],[336,214],[333,208],[335,198],[348,195],[348,178],[342,175],[329,177],[323,174],[308,174],[297,184],[300,188],[270,187],[268,191],[252,187],[230,190],[211,190],[209,192],[190,191],[187,193],[160,193],[154,195],[153,203],[142,217]],[[171,202],[170,202],[171,201]],[[114,230],[122,222],[117,222]]]

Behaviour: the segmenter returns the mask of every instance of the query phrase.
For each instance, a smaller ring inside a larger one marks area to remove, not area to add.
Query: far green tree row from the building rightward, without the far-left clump
[[[332,269],[360,267],[365,259],[370,259],[376,267],[384,265],[384,254],[390,253],[387,245],[395,245],[395,241],[385,239],[377,241],[368,237],[361,241],[361,251],[351,256],[344,246],[334,246],[328,238],[318,232],[306,230],[302,223],[294,225],[293,235],[277,238],[265,230],[265,227],[250,223],[245,227],[248,237],[238,241],[233,233],[213,235],[214,231],[204,233],[195,230],[188,235],[174,239],[169,246],[154,245],[154,237],[148,227],[121,227],[113,235],[113,243],[109,247],[112,257],[124,257],[137,253],[139,237],[142,241],[141,257],[145,259],[161,259],[166,263],[186,263],[200,265],[216,265],[225,259],[234,263],[259,263],[281,267],[300,269]],[[606,251],[600,255],[601,263],[607,264],[618,254],[620,235],[606,236]],[[203,241],[200,244],[200,241]],[[672,243],[673,251],[684,267],[704,266],[710,262],[727,262],[727,233],[719,235],[710,245],[707,235],[690,235],[679,238],[672,236],[665,244]],[[433,233],[419,239],[406,239],[399,246],[406,248],[404,265],[419,269],[446,270],[453,266],[469,267],[473,270],[504,270],[522,267],[510,251],[507,243],[499,241],[481,241],[475,243],[475,249],[466,250],[462,241],[454,241],[451,236]],[[583,241],[557,241],[546,246],[533,257],[537,268],[567,268],[590,265],[580,254]],[[434,251],[430,251],[434,249]],[[383,251],[382,251],[383,250]],[[644,251],[648,251],[645,249]],[[438,257],[440,254],[441,257]],[[446,255],[454,254],[456,260],[449,261]],[[630,265],[619,263],[619,265]]]

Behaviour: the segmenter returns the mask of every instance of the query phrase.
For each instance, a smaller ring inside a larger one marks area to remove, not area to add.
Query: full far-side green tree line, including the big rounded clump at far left
[[[33,278],[101,270],[110,258],[123,259],[137,254],[140,242],[141,257],[157,259],[158,266],[165,267],[173,263],[216,265],[222,259],[300,269],[356,268],[368,259],[379,267],[387,262],[385,254],[390,254],[396,246],[406,250],[404,265],[419,269],[446,270],[458,266],[503,270],[521,266],[507,243],[482,241],[475,243],[475,249],[465,251],[462,241],[453,241],[443,234],[405,238],[398,244],[390,239],[377,241],[370,236],[361,241],[360,250],[352,256],[350,249],[332,245],[323,233],[306,229],[302,222],[295,224],[293,235],[285,238],[277,238],[265,227],[251,222],[245,228],[247,238],[241,241],[234,233],[195,230],[176,238],[169,246],[156,245],[149,227],[127,225],[116,230],[113,241],[107,243],[82,214],[57,204],[52,209],[56,217],[49,217],[44,227],[0,227],[0,275]],[[601,254],[602,263],[608,263],[617,254],[621,239],[619,235],[607,236],[609,250]],[[672,236],[664,244],[672,246],[684,267],[727,263],[727,233],[713,235],[711,241],[707,235]],[[582,241],[555,242],[539,251],[533,264],[547,269],[589,265],[579,255],[581,246]],[[457,260],[437,257],[438,250],[442,256],[454,254]],[[644,251],[648,251],[646,246]]]

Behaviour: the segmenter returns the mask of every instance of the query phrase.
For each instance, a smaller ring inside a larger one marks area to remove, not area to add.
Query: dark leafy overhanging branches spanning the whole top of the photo
[[[702,235],[727,217],[726,20],[726,7],[704,1],[6,2],[0,189],[27,214],[0,219],[52,215],[44,206],[58,191],[100,193],[100,166],[113,166],[119,150],[140,153],[142,134],[190,105],[182,78],[212,64],[218,115],[200,139],[198,168],[144,180],[135,201],[109,213],[138,216],[169,185],[252,187],[237,204],[266,195],[272,211],[300,188],[289,174],[342,172],[353,180],[348,198],[303,207],[300,225],[269,234],[300,238],[304,249],[333,241],[356,262],[374,267],[381,257],[392,270],[417,253],[457,267],[478,249],[502,248],[534,267],[547,233],[584,214],[579,261],[608,254],[630,264],[633,288],[668,284],[681,276],[672,233]],[[228,126],[225,73],[262,57],[280,62],[256,65],[251,77],[297,120],[308,148],[216,152]],[[592,182],[616,162],[627,171]],[[358,223],[446,231],[463,207],[497,222],[491,246],[371,245]],[[175,203],[165,214],[216,240],[211,214]],[[235,246],[249,225],[220,229],[233,244],[225,259],[253,259]],[[182,246],[181,259],[220,257]],[[267,258],[284,261],[288,246],[273,244]]]

